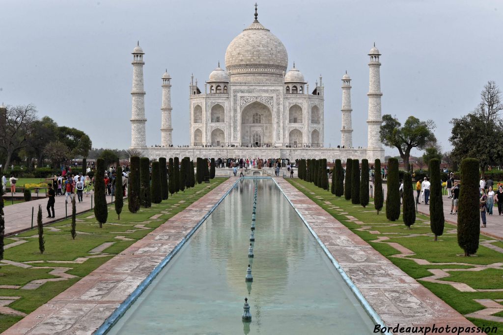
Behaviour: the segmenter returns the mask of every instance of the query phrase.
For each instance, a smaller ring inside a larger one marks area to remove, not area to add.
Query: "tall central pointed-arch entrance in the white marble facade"
[[[241,145],[273,144],[273,114],[262,102],[255,101],[241,111]]]

